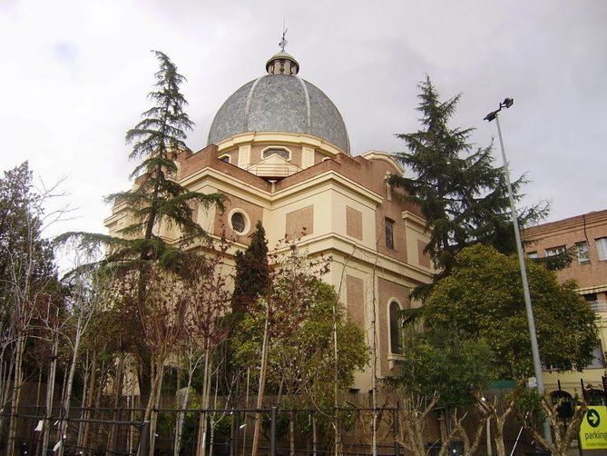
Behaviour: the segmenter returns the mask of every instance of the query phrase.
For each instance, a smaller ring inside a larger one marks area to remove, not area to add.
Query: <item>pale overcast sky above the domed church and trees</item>
[[[124,133],[149,107],[157,62],[188,78],[193,150],[240,85],[287,50],[299,75],[338,106],[353,154],[402,151],[416,130],[416,84],[429,74],[446,98],[463,93],[453,126],[501,116],[527,203],[549,220],[607,208],[607,2],[596,1],[13,1],[0,0],[0,169],[29,160],[53,183],[67,176],[78,218],[63,230],[103,231],[103,195],[130,186]],[[495,154],[498,151],[495,150]],[[497,156],[497,155],[496,155]]]

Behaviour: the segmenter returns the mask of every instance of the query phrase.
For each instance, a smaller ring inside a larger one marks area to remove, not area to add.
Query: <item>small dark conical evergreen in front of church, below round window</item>
[[[269,281],[268,241],[261,222],[255,225],[250,245],[236,253],[236,276],[232,294],[232,311],[246,312],[250,304],[266,292]]]

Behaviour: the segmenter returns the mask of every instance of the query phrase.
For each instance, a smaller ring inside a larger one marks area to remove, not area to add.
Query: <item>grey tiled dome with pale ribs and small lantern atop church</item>
[[[266,70],[269,74],[244,84],[221,105],[210,125],[209,144],[246,132],[311,134],[349,154],[338,108],[297,75],[297,60],[283,51],[269,59]]]

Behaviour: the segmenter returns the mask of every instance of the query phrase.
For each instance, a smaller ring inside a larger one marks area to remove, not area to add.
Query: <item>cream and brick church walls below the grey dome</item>
[[[419,248],[428,238],[418,209],[399,200],[397,191],[385,183],[387,173],[402,174],[403,170],[389,154],[369,152],[350,157],[311,136],[277,133],[262,135],[263,140],[256,134],[247,136],[248,144],[243,144],[242,138],[232,138],[177,158],[177,179],[182,185],[228,197],[224,213],[195,211],[198,223],[209,233],[220,236],[225,231],[233,238],[231,253],[247,247],[260,220],[270,247],[285,235],[295,236],[310,255],[330,255],[331,270],[325,280],[340,292],[350,318],[367,332],[369,345],[373,343],[375,311],[377,374],[389,374],[398,357],[389,350],[389,302],[397,301],[402,308],[416,305],[408,294],[417,284],[428,282],[431,274],[430,263]],[[270,146],[289,149],[292,161],[309,148],[314,163],[277,178],[276,174],[289,169],[291,161],[276,160],[275,156],[272,166],[257,168],[261,175],[255,175],[250,172],[251,165],[269,163],[260,154],[250,154],[258,145],[261,150]],[[233,157],[235,164],[220,159],[226,155]],[[245,227],[240,233],[230,220],[234,213],[244,216]],[[113,215],[105,220],[111,234],[128,224],[126,217],[124,207],[114,207]],[[386,217],[394,221],[393,249],[387,247]],[[178,233],[163,230],[162,235],[176,239]],[[358,374],[356,387],[367,391],[370,379],[368,370]]]

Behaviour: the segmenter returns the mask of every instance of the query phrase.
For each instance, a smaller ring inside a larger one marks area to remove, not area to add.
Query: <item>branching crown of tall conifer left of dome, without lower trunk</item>
[[[141,159],[131,177],[136,178],[132,190],[113,193],[106,199],[110,203],[125,203],[132,223],[122,228],[120,236],[94,233],[66,233],[59,241],[78,237],[82,245],[93,249],[104,244],[107,254],[103,263],[122,265],[126,269],[142,262],[159,262],[162,266],[178,270],[183,259],[182,248],[197,237],[205,236],[204,229],[192,220],[192,206],[212,204],[220,207],[219,193],[205,194],[187,190],[174,180],[177,174],[175,158],[189,153],[185,144],[186,131],[193,123],[183,111],[187,104],[179,88],[185,78],[177,72],[167,55],[153,51],[160,62],[155,74],[156,84],[148,96],[152,107],[142,114],[142,121],[126,134],[133,144],[130,158]],[[158,233],[160,226],[177,226],[181,231],[180,243],[167,243]]]

